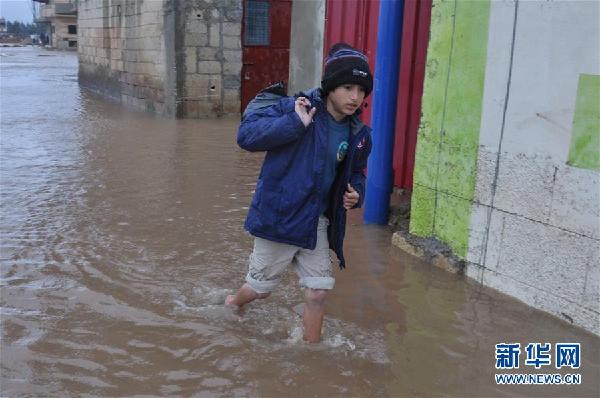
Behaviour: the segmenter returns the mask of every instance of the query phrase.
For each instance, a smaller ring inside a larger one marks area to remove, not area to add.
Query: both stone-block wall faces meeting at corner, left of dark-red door
[[[241,19],[241,0],[82,0],[80,82],[167,116],[238,113]]]

